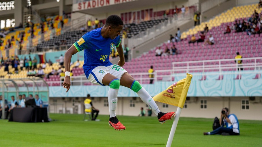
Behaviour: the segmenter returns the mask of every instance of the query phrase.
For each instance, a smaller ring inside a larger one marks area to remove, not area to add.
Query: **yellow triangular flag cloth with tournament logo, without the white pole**
[[[185,79],[170,85],[166,90],[154,96],[154,101],[183,108],[192,77],[192,75],[187,73]]]

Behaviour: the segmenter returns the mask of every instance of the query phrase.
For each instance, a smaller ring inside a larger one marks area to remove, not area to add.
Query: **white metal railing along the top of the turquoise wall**
[[[262,57],[253,57],[253,58],[242,58],[242,66],[234,63],[240,59],[219,59],[219,60],[203,60],[203,61],[189,61],[189,62],[173,62],[172,69],[170,70],[155,70],[150,75],[154,75],[154,78],[149,78],[148,72],[144,73],[129,73],[141,84],[148,84],[150,79],[154,81],[174,81],[174,77],[184,77],[185,73],[193,73],[194,76],[206,76],[206,75],[217,75],[222,77],[223,75],[238,75],[237,78],[241,79],[241,75],[250,75],[250,74],[261,74],[262,70]],[[247,62],[247,63],[245,63]],[[198,64],[198,65],[195,65]],[[200,65],[201,64],[201,65]],[[186,65],[186,66],[184,66]],[[239,68],[244,68],[248,70],[239,70]],[[47,81],[50,86],[55,85],[55,83],[61,81]],[[71,76],[72,85],[93,85],[92,83],[86,80],[86,76]],[[261,79],[259,76],[257,79]],[[220,78],[222,80],[222,78]],[[57,86],[57,84],[56,84]]]

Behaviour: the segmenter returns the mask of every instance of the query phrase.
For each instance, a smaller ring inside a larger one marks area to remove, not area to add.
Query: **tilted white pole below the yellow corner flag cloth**
[[[172,127],[171,127],[171,131],[170,131],[170,134],[169,134],[169,137],[168,137],[168,140],[167,140],[167,146],[166,147],[171,147],[181,111],[182,111],[182,108],[177,107],[175,119],[174,119]]]

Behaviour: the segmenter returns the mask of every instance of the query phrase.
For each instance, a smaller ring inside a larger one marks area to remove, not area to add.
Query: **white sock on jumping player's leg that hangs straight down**
[[[109,90],[108,90],[108,106],[109,106],[110,118],[116,116],[117,94],[118,94],[118,89],[109,88]]]

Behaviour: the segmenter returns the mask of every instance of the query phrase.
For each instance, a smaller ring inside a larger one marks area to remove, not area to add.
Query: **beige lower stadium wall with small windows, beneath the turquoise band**
[[[83,114],[84,99],[50,98],[50,113]],[[206,109],[201,108],[201,100],[206,100]],[[187,108],[182,109],[181,117],[215,118],[215,116],[220,116],[222,108],[227,107],[230,109],[230,113],[236,114],[239,119],[262,120],[262,103],[249,101],[249,109],[241,109],[242,100],[247,101],[249,97],[190,97],[190,100],[186,101]],[[92,103],[96,109],[99,109],[99,114],[109,115],[107,97],[93,98]],[[177,109],[176,106],[156,103],[163,112],[176,111]],[[138,116],[141,107],[144,108],[147,115],[147,105],[139,97],[118,97],[116,113],[124,116]],[[152,116],[156,115],[153,113]]]

